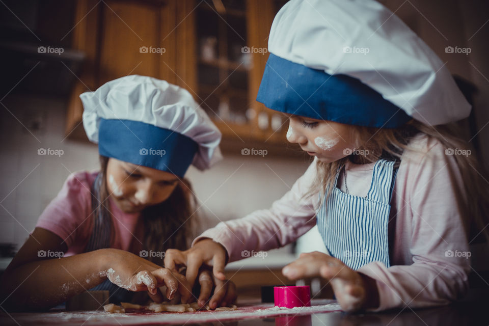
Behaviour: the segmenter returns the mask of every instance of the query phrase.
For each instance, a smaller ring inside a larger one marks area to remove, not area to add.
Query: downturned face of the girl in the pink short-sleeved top
[[[137,166],[110,157],[107,162],[107,190],[117,206],[126,213],[164,202],[178,185],[169,172]]]

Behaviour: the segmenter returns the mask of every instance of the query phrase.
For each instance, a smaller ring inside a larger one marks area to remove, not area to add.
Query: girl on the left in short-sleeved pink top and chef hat
[[[161,266],[167,248],[192,239],[195,197],[183,176],[191,164],[205,170],[221,159],[220,131],[164,80],[126,76],[80,98],[101,169],[70,175],[41,214],[2,276],[3,307],[47,309],[88,289],[109,290],[114,303],[133,291],[161,302],[160,287],[168,300],[193,301],[185,277]],[[199,280],[203,305],[214,282],[208,271]],[[234,301],[234,284],[215,283],[214,307]]]

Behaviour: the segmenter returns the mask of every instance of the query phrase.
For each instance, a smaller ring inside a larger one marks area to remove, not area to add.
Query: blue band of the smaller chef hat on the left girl
[[[183,177],[197,143],[181,133],[144,122],[100,119],[98,152],[132,164]]]

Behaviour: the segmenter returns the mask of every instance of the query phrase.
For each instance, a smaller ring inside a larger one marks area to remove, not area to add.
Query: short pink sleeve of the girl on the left
[[[61,188],[58,196],[44,209],[36,227],[43,228],[61,237],[68,246],[85,238],[91,213],[91,183],[89,174],[71,174]],[[87,223],[85,223],[87,222]]]

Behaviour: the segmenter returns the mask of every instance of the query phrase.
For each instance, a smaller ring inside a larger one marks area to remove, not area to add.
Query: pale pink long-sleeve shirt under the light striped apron
[[[373,261],[358,269],[376,280],[380,311],[397,307],[447,304],[468,290],[470,260],[463,219],[457,202],[463,180],[453,155],[437,140],[417,136],[406,151],[394,185],[389,220],[391,267]],[[374,164],[346,166],[348,191],[365,196]],[[295,241],[315,224],[318,193],[304,198],[316,178],[315,161],[271,208],[222,222],[197,237],[211,238],[226,248],[229,261],[241,251],[266,251]],[[344,181],[338,187],[344,188]],[[392,234],[392,233],[391,233]]]

